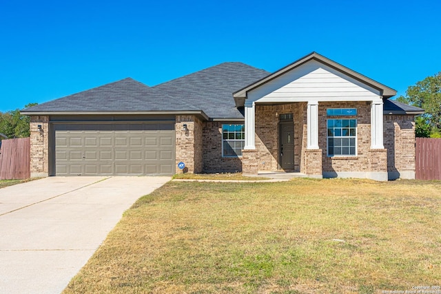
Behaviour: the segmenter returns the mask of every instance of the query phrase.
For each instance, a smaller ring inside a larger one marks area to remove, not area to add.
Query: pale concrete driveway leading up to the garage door
[[[123,211],[169,177],[50,177],[0,189],[0,293],[60,293]]]

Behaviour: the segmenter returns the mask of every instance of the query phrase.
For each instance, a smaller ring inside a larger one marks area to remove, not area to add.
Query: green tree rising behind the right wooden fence
[[[406,96],[397,98],[424,109],[425,113],[416,119],[416,136],[440,136],[441,133],[441,72],[428,76],[414,86],[407,88]]]

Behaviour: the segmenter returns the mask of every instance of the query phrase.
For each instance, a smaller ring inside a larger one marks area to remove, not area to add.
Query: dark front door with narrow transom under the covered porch
[[[280,120],[280,167],[294,169],[294,122]]]

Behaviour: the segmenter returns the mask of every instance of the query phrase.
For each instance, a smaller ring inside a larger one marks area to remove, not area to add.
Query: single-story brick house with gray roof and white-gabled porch
[[[312,52],[273,73],[233,62],[154,87],[125,78],[21,113],[31,117],[33,177],[414,178],[414,118],[423,109],[394,95]]]

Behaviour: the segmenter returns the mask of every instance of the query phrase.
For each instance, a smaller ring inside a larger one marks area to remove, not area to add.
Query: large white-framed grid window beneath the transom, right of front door
[[[357,120],[327,120],[328,156],[357,155]]]

